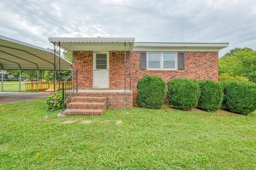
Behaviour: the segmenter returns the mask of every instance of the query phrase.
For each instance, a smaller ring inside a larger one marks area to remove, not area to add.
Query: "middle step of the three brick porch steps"
[[[106,102],[71,102],[67,109],[106,109]]]

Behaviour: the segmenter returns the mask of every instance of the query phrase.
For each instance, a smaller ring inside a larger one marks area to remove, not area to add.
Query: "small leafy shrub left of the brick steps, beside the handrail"
[[[56,92],[55,94],[50,95],[45,100],[45,105],[47,109],[62,109],[63,95],[62,92]]]

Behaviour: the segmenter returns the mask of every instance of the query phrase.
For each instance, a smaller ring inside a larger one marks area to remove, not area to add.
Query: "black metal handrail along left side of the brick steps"
[[[66,108],[69,98],[75,91],[78,91],[77,73],[77,70],[74,71],[65,81],[62,82],[63,110]]]

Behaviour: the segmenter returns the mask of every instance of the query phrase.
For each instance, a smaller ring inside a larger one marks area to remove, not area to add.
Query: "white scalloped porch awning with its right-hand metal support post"
[[[126,91],[127,69],[129,69],[130,91],[131,91],[131,67],[132,48],[134,37],[49,37],[50,43],[59,43],[59,46],[68,52],[93,51],[93,52],[124,52],[124,91]],[[129,52],[129,54],[126,54]],[[127,58],[126,58],[127,57]],[[129,65],[129,67],[127,67]]]

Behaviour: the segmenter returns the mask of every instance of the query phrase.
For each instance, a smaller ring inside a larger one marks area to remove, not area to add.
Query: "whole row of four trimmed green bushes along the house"
[[[145,75],[137,84],[137,104],[145,108],[161,108],[166,96],[166,83],[158,77]],[[216,82],[180,78],[167,82],[169,104],[177,109],[193,107],[208,112],[222,106],[235,113],[247,115],[256,109],[256,85],[238,81]]]

